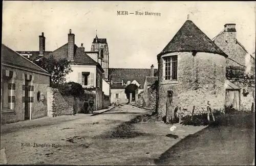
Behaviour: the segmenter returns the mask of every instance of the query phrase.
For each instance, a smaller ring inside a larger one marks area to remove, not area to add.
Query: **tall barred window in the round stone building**
[[[165,80],[177,80],[177,56],[164,57]]]

